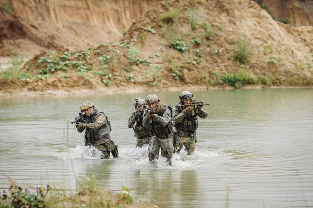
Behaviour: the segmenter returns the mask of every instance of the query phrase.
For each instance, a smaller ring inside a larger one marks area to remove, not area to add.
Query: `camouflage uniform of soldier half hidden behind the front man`
[[[135,110],[128,119],[128,128],[132,127],[134,136],[136,137],[136,147],[142,147],[151,141],[149,127],[142,126],[142,115],[143,112]]]

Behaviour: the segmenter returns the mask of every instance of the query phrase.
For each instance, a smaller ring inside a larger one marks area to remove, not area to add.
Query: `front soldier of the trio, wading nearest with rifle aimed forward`
[[[146,96],[144,102],[149,108],[144,112],[142,125],[149,126],[153,134],[148,147],[149,161],[157,160],[161,149],[161,156],[167,158],[166,163],[171,165],[174,152],[171,107],[161,104],[154,94]]]

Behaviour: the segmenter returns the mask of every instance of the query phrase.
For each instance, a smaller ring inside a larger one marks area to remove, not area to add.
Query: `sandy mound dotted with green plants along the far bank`
[[[253,1],[161,0],[120,41],[44,51],[2,72],[1,92],[312,86],[312,36]]]

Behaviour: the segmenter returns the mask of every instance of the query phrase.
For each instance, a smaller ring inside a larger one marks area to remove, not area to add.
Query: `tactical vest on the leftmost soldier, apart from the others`
[[[102,113],[107,121],[107,125],[103,124],[99,129],[87,129],[86,128],[86,132],[85,132],[85,136],[87,141],[95,141],[98,139],[102,139],[103,137],[106,137],[107,135],[109,135],[110,131],[111,131],[111,125],[109,123],[109,120],[107,120],[107,117],[105,116],[105,114],[103,112],[99,112]],[[92,116],[91,123],[95,122],[95,117],[97,114],[96,113]]]

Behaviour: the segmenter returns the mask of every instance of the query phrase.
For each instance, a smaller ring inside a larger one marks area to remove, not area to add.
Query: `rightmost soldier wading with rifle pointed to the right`
[[[193,154],[196,141],[196,129],[198,128],[198,119],[206,118],[208,113],[201,108],[201,106],[188,106],[191,102],[193,94],[189,91],[182,91],[179,94],[179,103],[175,104],[174,110],[174,126],[179,136],[179,143],[175,145],[176,153],[178,154],[182,148],[185,147],[188,155]]]

